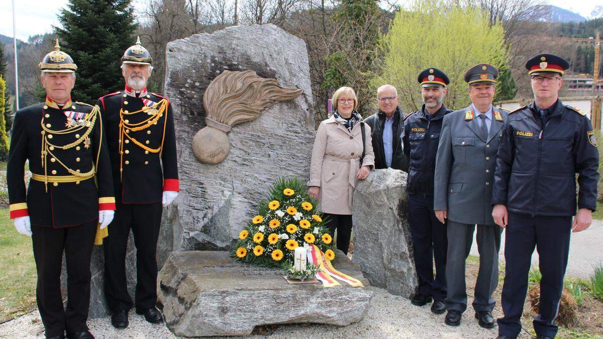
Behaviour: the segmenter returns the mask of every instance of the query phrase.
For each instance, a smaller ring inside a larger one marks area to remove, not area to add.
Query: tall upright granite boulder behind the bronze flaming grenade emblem
[[[165,92],[174,110],[180,175],[177,217],[167,225],[173,250],[229,249],[259,201],[268,197],[270,183],[279,176],[309,176],[315,131],[306,44],[267,24],[195,34],[166,48]],[[194,156],[191,141],[206,126],[204,90],[225,70],[255,71],[303,93],[235,125],[230,154],[207,165]]]

